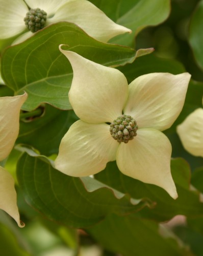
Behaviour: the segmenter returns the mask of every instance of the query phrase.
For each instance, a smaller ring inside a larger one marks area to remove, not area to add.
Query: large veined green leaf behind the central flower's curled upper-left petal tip
[[[106,66],[124,65],[136,57],[135,50],[99,42],[74,24],[50,25],[21,44],[7,48],[1,57],[2,77],[7,86],[15,94],[26,91],[29,95],[23,110],[34,110],[42,102],[62,110],[71,109],[68,92],[72,68],[59,51],[60,44]]]

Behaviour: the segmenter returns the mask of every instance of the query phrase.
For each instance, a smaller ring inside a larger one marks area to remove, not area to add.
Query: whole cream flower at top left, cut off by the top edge
[[[132,32],[114,23],[104,12],[86,0],[0,0],[1,39],[21,34],[16,42],[56,22],[71,22],[100,41]],[[27,30],[26,30],[27,28]]]

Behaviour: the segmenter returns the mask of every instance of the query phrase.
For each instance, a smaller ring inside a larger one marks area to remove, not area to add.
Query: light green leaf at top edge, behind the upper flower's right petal
[[[164,22],[170,13],[169,0],[91,0],[119,25],[131,29],[131,34],[119,35],[110,40],[114,44],[132,46],[134,37],[148,26]]]

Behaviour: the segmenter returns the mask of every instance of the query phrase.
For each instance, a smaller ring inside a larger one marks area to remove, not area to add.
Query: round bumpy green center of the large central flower
[[[111,136],[118,142],[128,143],[129,140],[133,140],[137,130],[137,122],[129,115],[119,116],[110,124]]]

